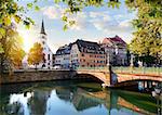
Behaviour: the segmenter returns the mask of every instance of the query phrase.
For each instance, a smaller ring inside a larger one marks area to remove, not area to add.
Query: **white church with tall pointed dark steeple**
[[[46,40],[48,40],[48,37],[46,37],[45,29],[44,29],[44,23],[42,21],[39,41],[43,47],[44,62],[40,63],[38,67],[51,68],[53,66],[53,53],[51,49],[49,48]]]

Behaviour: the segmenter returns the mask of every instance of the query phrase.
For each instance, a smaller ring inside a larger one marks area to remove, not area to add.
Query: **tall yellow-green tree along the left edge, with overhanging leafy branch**
[[[29,4],[28,4],[29,5]],[[23,23],[26,27],[33,24],[32,20],[25,15],[26,7],[18,5],[15,0],[0,0],[0,68],[12,68],[12,64],[21,64],[24,56],[19,35],[13,25]],[[14,54],[13,54],[14,53]],[[17,54],[19,54],[17,56]],[[16,56],[15,56],[16,55]],[[16,59],[19,58],[19,59]],[[8,66],[6,66],[8,65]],[[11,71],[11,69],[10,69]]]

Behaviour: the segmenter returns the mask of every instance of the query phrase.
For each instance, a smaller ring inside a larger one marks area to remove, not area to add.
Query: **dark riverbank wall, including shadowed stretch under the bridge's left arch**
[[[76,71],[68,69],[31,69],[31,71],[16,71],[11,75],[4,73],[0,77],[0,84],[24,84],[24,82],[38,82],[38,81],[51,81],[51,80],[77,80],[77,79],[90,79],[96,80],[91,75],[78,75]]]

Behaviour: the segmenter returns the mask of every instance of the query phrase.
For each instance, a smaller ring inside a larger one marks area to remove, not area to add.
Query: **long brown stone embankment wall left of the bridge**
[[[0,84],[76,79],[76,75],[75,71],[15,72],[12,75],[1,75]]]

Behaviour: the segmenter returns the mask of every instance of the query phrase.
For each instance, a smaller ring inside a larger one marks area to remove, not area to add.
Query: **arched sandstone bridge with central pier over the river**
[[[130,67],[127,67],[130,69]],[[77,69],[77,74],[91,75],[98,78],[103,81],[104,87],[113,87],[120,82],[135,81],[135,80],[151,80],[151,81],[160,81],[162,82],[162,72],[161,69],[157,73],[148,73],[148,72],[127,72],[126,71],[117,71],[117,69],[108,69],[108,68],[96,68],[96,69]]]

